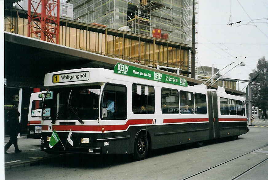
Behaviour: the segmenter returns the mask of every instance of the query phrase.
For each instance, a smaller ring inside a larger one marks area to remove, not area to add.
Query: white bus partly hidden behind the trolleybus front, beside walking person
[[[30,97],[29,113],[28,113],[28,134],[27,138],[41,138],[41,112],[42,112],[42,103],[45,97],[45,93],[34,92]],[[51,92],[46,96],[46,99],[52,98]]]

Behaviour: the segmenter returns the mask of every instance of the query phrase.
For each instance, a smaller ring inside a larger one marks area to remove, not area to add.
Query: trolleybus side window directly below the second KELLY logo
[[[161,105],[163,114],[179,114],[179,92],[178,90],[162,88]]]

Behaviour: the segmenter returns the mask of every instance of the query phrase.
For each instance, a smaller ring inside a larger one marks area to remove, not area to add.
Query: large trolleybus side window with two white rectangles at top
[[[133,113],[155,113],[155,89],[153,86],[132,84]]]

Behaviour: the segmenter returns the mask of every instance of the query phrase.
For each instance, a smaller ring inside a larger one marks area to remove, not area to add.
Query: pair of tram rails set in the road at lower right
[[[229,159],[229,160],[227,160],[227,161],[225,161],[225,162],[223,162],[223,163],[220,163],[220,164],[217,164],[217,165],[215,165],[215,166],[209,167],[209,168],[207,168],[207,169],[205,169],[205,170],[203,170],[203,171],[200,171],[200,172],[198,172],[198,173],[192,174],[192,175],[190,175],[190,176],[188,176],[188,177],[186,177],[186,178],[183,178],[183,179],[181,179],[181,180],[185,180],[185,179],[189,179],[189,178],[195,177],[195,176],[197,176],[197,175],[199,175],[199,174],[202,174],[202,173],[204,173],[204,172],[206,172],[206,171],[209,171],[209,170],[211,170],[211,169],[214,169],[214,168],[216,168],[216,167],[219,167],[219,166],[221,166],[221,165],[223,165],[223,164],[226,164],[226,163],[228,163],[228,162],[230,162],[230,161],[233,161],[233,160],[238,159],[238,158],[240,158],[240,157],[242,157],[242,156],[245,156],[245,155],[247,155],[247,154],[250,154],[251,152],[257,151],[258,149],[264,148],[264,147],[266,147],[266,146],[268,146],[268,144],[263,145],[263,146],[261,146],[261,147],[259,147],[259,148],[257,148],[257,149],[254,149],[254,150],[252,150],[252,151],[250,151],[250,152],[247,152],[247,153],[245,153],[245,154],[242,154],[242,155],[240,155],[240,156],[237,156],[237,157],[235,157],[235,158]],[[266,158],[266,159],[262,160],[261,162],[255,164],[254,166],[250,167],[250,168],[247,169],[246,171],[243,171],[242,173],[240,173],[240,174],[239,174],[238,176],[236,176],[235,178],[232,178],[232,180],[238,179],[239,177],[241,177],[242,175],[246,174],[248,171],[250,171],[250,170],[253,169],[254,167],[257,167],[259,164],[265,162],[266,160],[268,160],[268,158]]]

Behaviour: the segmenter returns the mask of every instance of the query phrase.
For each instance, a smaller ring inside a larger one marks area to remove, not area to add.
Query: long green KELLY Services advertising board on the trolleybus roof
[[[163,74],[157,73],[151,70],[142,69],[134,66],[129,66],[121,63],[117,63],[114,68],[113,72],[116,74],[124,74],[127,76],[133,77],[140,77],[148,80],[159,81],[164,83],[176,84],[180,86],[187,86],[186,79]]]

